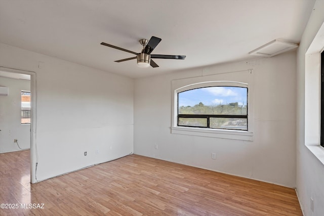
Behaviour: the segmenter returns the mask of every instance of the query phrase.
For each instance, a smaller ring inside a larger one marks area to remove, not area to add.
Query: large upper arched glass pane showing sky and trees
[[[178,114],[247,115],[248,88],[206,87],[178,93]]]

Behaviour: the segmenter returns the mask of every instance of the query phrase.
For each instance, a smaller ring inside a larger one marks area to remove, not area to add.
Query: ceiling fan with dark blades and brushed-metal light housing
[[[139,67],[149,67],[150,65],[152,67],[158,67],[158,65],[152,59],[185,59],[186,58],[186,56],[151,54],[151,52],[155,49],[155,47],[161,41],[161,38],[152,36],[150,40],[140,39],[139,41],[140,41],[140,44],[143,46],[143,50],[140,53],[135,53],[130,50],[126,50],[126,49],[123,49],[120,47],[106,44],[105,42],[102,42],[101,45],[135,54],[136,55],[135,57],[131,57],[131,58],[127,58],[127,59],[120,59],[115,62],[124,62],[124,61],[132,60],[132,59],[137,59],[137,65]]]

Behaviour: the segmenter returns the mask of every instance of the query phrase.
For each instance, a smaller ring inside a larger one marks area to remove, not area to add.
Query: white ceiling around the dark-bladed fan
[[[104,71],[143,77],[247,58],[267,42],[299,42],[315,0],[0,0],[4,44]],[[162,38],[158,68],[139,68],[138,40]]]

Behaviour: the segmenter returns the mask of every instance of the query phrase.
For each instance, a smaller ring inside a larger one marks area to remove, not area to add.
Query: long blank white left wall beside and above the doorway
[[[5,44],[0,66],[36,72],[38,181],[133,152],[133,79]]]

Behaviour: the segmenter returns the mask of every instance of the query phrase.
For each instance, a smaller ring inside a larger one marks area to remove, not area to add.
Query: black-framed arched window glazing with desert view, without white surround
[[[177,125],[248,131],[248,88],[213,86],[178,92]]]

